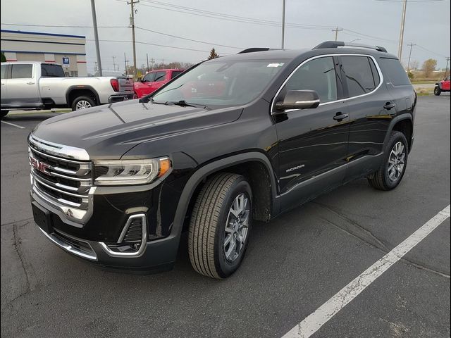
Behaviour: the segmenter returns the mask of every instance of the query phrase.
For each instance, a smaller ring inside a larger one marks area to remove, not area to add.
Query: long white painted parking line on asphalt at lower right
[[[438,225],[443,223],[443,221],[448,217],[450,217],[450,206],[444,208],[437,215],[431,218],[431,220],[428,220],[428,222],[420,227],[419,230],[416,230],[416,232],[407,237],[404,242],[396,246],[395,249],[371,265],[362,274],[360,274],[359,277],[350,282],[350,284],[343,287],[340,292],[326,301],[326,303],[323,303],[323,305],[317,308],[314,313],[311,313],[307,318],[302,320],[301,323],[288,331],[283,338],[310,337],[311,334],[318,331],[321,326],[330,320],[330,318],[333,318],[338,311],[344,308],[348,303],[350,303],[350,301],[352,301],[352,299],[357,297],[360,292],[364,291],[366,287],[385,273],[390,266],[395,264],[406,253],[412,250],[416,244],[419,244],[419,242],[425,239],[428,234],[438,227]]]

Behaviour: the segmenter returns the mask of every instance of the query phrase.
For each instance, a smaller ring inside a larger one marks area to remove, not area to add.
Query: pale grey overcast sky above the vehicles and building
[[[0,4],[2,29],[85,35],[88,72],[92,72],[95,61],[92,27],[61,27],[92,26],[89,0],[1,0]],[[109,40],[100,42],[103,68],[113,70],[116,56],[116,67],[119,65],[123,71],[124,52],[132,64],[130,5],[125,0],[96,0],[96,8],[99,39]],[[136,40],[140,42],[138,66],[146,63],[146,53],[158,63],[163,59],[195,63],[204,60],[212,47],[220,55],[235,54],[250,46],[280,48],[282,0],[140,0],[135,8],[135,25],[139,27]],[[285,28],[287,49],[311,48],[335,39],[331,30],[338,26],[343,29],[338,33],[339,40],[359,39],[357,43],[385,46],[397,54],[402,1],[286,0],[285,13],[289,26]],[[412,49],[412,60],[421,65],[427,58],[435,58],[438,68],[445,68],[446,57],[450,56],[450,0],[407,0],[402,53],[406,64],[407,44],[411,42],[417,45]]]

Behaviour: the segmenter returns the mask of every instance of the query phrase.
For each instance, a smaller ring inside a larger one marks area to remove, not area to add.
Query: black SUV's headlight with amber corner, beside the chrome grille
[[[94,161],[94,183],[97,185],[147,184],[171,169],[171,160],[150,158],[145,160]]]

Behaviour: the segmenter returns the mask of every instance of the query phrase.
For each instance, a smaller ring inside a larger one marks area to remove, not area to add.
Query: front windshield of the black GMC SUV
[[[284,64],[284,60],[201,63],[155,92],[152,99],[204,106],[247,104],[261,94]]]

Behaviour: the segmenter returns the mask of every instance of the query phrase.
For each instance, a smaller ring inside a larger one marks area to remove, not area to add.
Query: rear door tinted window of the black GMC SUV
[[[372,92],[379,84],[378,78],[375,79],[373,76],[374,72],[377,75],[377,71],[371,69],[370,58],[366,56],[342,56],[341,60],[350,97]]]

